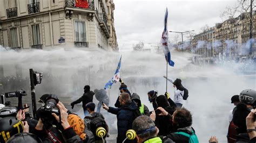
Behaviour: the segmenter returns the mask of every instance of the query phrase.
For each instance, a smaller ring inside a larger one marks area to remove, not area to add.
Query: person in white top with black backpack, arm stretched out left
[[[164,76],[164,78],[167,78],[167,77]],[[181,84],[181,80],[179,78],[176,78],[175,81],[173,81],[171,78],[167,78],[167,80],[173,83],[173,87],[175,88],[173,101],[174,103],[176,103],[177,108],[181,108],[184,104],[183,96],[184,96],[185,88]]]

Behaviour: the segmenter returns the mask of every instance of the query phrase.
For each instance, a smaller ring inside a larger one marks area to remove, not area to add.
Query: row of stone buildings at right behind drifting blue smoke
[[[256,38],[256,11],[253,11],[252,38]],[[236,18],[229,18],[223,23],[217,23],[214,27],[207,28],[203,32],[194,35],[191,40],[192,50],[203,58],[225,56],[233,59],[236,56],[244,56],[239,48],[250,39],[250,18],[248,13],[242,13]],[[232,45],[232,46],[230,46]],[[256,44],[253,42],[252,55],[256,55]]]

